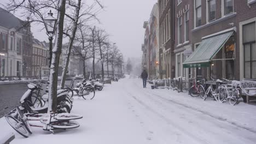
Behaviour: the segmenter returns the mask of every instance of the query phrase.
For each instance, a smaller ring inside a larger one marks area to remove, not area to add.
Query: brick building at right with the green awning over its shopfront
[[[214,79],[256,79],[256,55],[252,54],[256,49],[254,2],[194,0],[190,3],[189,9],[194,11],[190,17],[194,52],[184,61],[184,68],[206,79],[210,76]]]

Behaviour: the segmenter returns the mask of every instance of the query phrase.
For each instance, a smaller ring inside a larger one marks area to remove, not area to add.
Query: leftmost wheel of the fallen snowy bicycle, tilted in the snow
[[[25,125],[18,121],[16,118],[14,118],[13,116],[10,115],[5,115],[5,119],[6,121],[10,124],[10,126],[17,131],[20,135],[24,136],[24,137],[28,137],[28,135],[30,135],[30,133],[27,131],[27,129],[25,128]]]

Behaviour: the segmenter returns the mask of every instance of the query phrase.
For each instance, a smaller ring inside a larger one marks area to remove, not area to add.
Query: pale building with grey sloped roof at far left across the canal
[[[0,19],[0,77],[21,77],[24,21],[2,8]]]

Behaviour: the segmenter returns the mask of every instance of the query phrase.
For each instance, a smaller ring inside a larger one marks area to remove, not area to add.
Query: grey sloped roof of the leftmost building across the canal
[[[11,14],[9,11],[0,7],[0,26],[5,28],[20,28],[24,21]]]

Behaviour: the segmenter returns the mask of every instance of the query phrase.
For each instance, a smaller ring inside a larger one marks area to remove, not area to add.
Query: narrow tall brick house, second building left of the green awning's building
[[[174,57],[174,1],[158,0],[159,4],[159,58],[160,78],[175,75]]]

